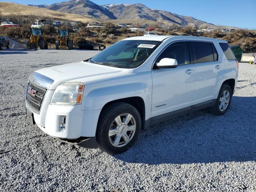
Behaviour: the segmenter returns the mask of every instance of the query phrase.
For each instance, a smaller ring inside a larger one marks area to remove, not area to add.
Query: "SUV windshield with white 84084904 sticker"
[[[136,68],[146,61],[161,43],[161,41],[149,40],[119,41],[91,58],[90,61],[120,68]]]

